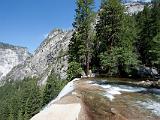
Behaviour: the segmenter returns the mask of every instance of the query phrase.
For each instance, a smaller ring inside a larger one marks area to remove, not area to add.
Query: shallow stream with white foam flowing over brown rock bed
[[[101,94],[111,108],[129,120],[160,120],[160,89],[123,84],[117,80],[96,80],[91,84],[104,89]]]

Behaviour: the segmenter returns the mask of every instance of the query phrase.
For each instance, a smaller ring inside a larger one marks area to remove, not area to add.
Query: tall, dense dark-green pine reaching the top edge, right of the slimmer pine
[[[118,0],[103,0],[96,25],[100,66],[110,75],[117,72],[117,58],[114,56],[115,46],[120,41],[123,12],[123,7]]]

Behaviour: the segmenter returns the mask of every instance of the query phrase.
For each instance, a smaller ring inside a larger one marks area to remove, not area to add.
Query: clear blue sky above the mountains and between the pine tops
[[[0,42],[33,53],[54,28],[72,28],[75,8],[75,0],[0,0]]]

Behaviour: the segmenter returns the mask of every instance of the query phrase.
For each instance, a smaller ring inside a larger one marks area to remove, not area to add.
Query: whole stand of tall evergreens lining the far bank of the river
[[[68,79],[85,71],[107,76],[136,76],[140,66],[160,70],[160,1],[144,3],[138,14],[127,14],[119,0],[77,0],[69,44]],[[79,66],[79,68],[78,68]],[[74,73],[76,71],[76,73]]]

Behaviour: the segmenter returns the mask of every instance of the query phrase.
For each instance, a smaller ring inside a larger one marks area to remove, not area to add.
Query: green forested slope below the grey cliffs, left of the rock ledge
[[[66,84],[52,73],[44,89],[36,78],[7,82],[0,87],[0,120],[29,120],[53,100]]]

